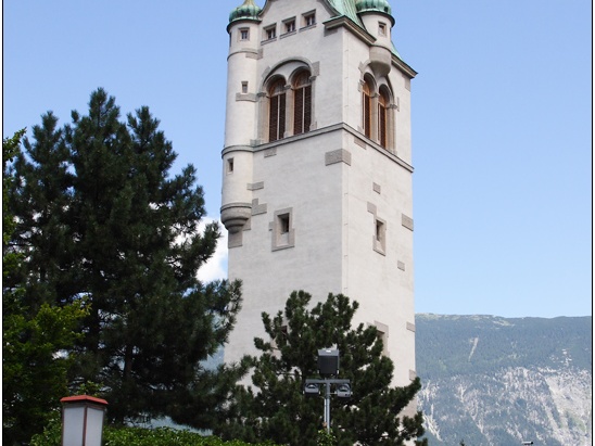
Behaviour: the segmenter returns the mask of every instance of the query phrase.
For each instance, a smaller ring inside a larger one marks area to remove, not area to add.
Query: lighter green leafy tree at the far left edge
[[[23,135],[2,140],[2,443],[9,446],[41,432],[66,395],[72,358],[61,352],[73,347],[87,314],[81,302],[63,307],[24,302],[25,288],[16,279],[24,257],[9,245],[15,220],[8,206],[14,186],[10,163]]]

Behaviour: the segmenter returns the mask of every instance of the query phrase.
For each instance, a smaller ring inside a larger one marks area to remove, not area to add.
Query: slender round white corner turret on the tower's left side
[[[251,215],[252,140],[257,116],[256,60],[258,54],[258,14],[253,0],[245,0],[229,14],[229,55],[227,71],[226,132],[223,152],[221,222],[227,230],[241,230]]]

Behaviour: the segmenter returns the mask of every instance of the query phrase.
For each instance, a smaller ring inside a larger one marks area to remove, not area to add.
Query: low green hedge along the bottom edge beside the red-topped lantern
[[[42,434],[31,438],[30,446],[60,446],[62,425],[60,421],[50,423]],[[169,428],[113,428],[103,430],[103,446],[249,446],[248,443],[232,439],[224,442],[217,436],[203,436],[189,431]],[[254,445],[253,445],[254,446]],[[276,446],[274,443],[259,443],[256,446]]]

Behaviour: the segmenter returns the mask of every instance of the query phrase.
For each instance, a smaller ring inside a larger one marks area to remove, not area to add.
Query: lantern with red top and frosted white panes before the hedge
[[[101,446],[107,402],[88,395],[67,396],[62,403],[62,446]]]

